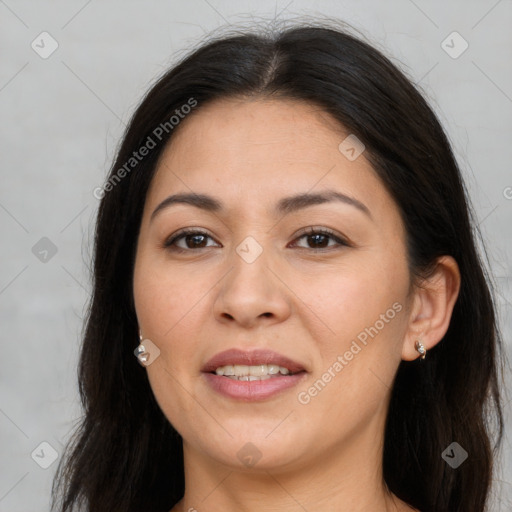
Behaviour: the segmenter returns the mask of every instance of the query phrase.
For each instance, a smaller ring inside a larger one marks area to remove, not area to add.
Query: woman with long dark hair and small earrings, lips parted
[[[211,40],[133,116],[62,512],[486,510],[501,342],[461,174],[333,27]]]

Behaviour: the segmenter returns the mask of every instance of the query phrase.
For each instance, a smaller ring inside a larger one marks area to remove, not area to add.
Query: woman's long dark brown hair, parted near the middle
[[[296,99],[330,113],[365,144],[396,201],[411,276],[428,276],[442,255],[457,261],[461,289],[444,339],[421,364],[398,368],[383,468],[390,491],[422,512],[484,511],[503,433],[502,341],[468,193],[436,115],[410,79],[363,38],[320,23],[211,39],[166,72],[133,115],[99,205],[79,362],[84,415],[60,461],[52,506],[167,512],[183,496],[181,436],[133,353],[134,258],[146,193],[176,131],[171,116],[193,101],[189,116],[230,97]],[[126,170],[148,137],[156,147]],[[453,441],[469,453],[456,470],[441,457]]]

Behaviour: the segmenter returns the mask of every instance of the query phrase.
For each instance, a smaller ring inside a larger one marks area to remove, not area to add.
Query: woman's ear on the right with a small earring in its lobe
[[[402,347],[404,361],[420,357],[415,347],[417,340],[423,343],[428,353],[443,339],[459,296],[460,279],[455,259],[441,256],[433,273],[415,286],[409,326]]]

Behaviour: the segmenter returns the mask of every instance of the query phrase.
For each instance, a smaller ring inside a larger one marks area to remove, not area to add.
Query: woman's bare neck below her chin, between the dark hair
[[[173,512],[411,511],[386,488],[378,446],[359,433],[293,467],[240,469],[184,443],[186,491]]]

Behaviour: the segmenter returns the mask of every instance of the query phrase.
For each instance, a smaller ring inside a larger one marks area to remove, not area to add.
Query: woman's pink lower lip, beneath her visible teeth
[[[208,385],[215,391],[229,398],[245,402],[264,400],[277,395],[285,389],[296,386],[307,375],[306,372],[265,380],[234,380],[215,373],[203,373]]]

